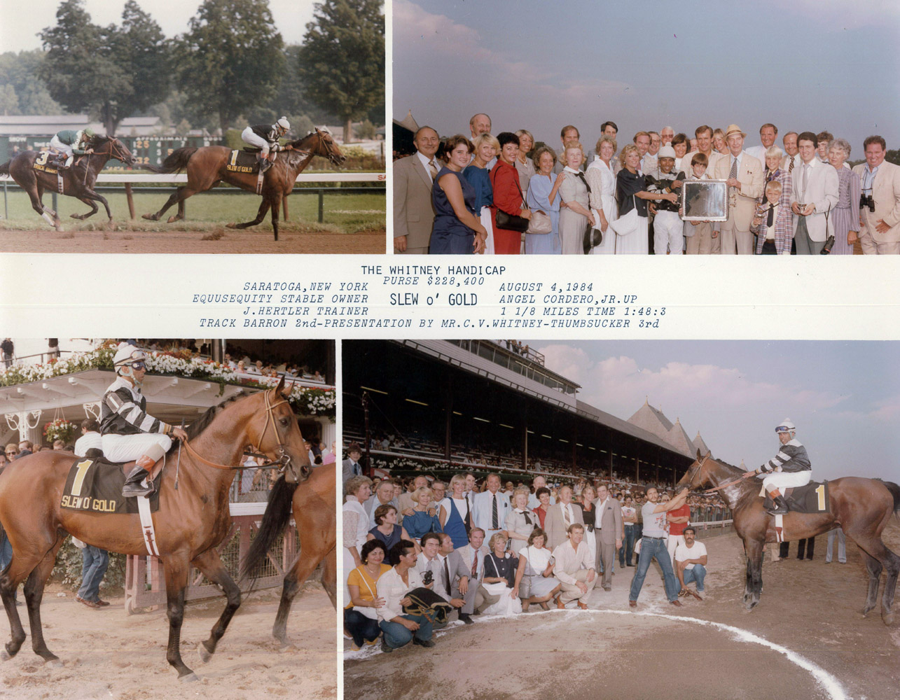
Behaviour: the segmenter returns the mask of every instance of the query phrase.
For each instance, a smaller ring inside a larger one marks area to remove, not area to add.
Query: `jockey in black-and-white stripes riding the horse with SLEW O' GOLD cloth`
[[[147,354],[143,350],[121,343],[112,360],[118,376],[103,394],[100,416],[103,454],[110,462],[137,460],[121,489],[125,498],[153,493],[149,471],[172,446],[169,435],[175,435],[179,440],[187,439],[180,427],[148,416],[147,399],[140,393],[147,371],[146,360]],[[146,483],[143,482],[145,477],[148,477]]]

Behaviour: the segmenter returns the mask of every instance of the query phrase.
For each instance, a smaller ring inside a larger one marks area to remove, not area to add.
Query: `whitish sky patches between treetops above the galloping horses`
[[[138,0],[167,38],[188,30],[201,0]],[[275,26],[285,44],[302,43],[306,24],[312,21],[311,0],[269,0]],[[40,49],[38,32],[56,24],[58,0],[30,0],[28,11],[18,0],[0,0],[0,52]],[[125,0],[86,0],[85,9],[94,24],[121,24]]]

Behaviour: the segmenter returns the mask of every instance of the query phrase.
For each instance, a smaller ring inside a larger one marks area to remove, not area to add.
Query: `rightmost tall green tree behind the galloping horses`
[[[309,97],[351,122],[381,104],[384,110],[384,15],[382,0],[325,0],[306,25],[298,70]]]

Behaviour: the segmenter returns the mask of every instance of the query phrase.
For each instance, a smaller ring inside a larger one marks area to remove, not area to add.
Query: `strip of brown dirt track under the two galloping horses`
[[[275,241],[271,229],[210,230],[73,230],[0,229],[4,253],[384,253],[385,231],[361,233],[280,230]]]

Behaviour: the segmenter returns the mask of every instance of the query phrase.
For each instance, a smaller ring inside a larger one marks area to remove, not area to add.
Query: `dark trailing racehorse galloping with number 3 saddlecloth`
[[[59,175],[62,176],[62,193],[69,197],[77,197],[91,208],[86,214],[72,214],[73,219],[85,220],[89,216],[94,216],[97,213],[97,205],[94,202],[102,202],[106,216],[112,223],[109,202],[106,202],[102,194],[94,192],[97,174],[103,170],[110,158],[118,158],[126,166],[133,166],[135,158],[119,139],[107,136],[95,136],[91,148],[94,148],[94,153],[76,156],[75,162],[68,170],[59,171]],[[61,231],[62,225],[57,212],[45,207],[41,202],[45,191],[58,192],[58,176],[41,169],[35,170],[35,166],[55,169],[55,166],[48,164],[50,155],[50,151],[23,151],[0,166],[0,175],[12,175],[15,182],[31,198],[31,208],[50,226]]]

